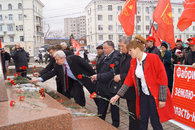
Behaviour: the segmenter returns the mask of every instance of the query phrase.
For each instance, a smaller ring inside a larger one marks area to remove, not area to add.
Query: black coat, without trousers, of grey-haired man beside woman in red
[[[129,72],[131,59],[132,58],[129,54],[122,54],[120,58],[120,77],[122,84],[125,81],[125,78]],[[135,88],[129,87],[129,89],[124,95],[124,98],[128,100],[135,100],[135,97],[136,97]]]

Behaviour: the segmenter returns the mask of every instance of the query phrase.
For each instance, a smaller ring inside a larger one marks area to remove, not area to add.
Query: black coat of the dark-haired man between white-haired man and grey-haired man
[[[96,88],[97,93],[101,96],[105,97],[111,97],[111,93],[109,92],[109,83],[114,77],[114,71],[115,74],[119,74],[119,62],[120,62],[120,52],[114,51],[112,54],[110,54],[106,59],[102,59],[98,70],[97,70],[97,82],[96,82]],[[110,64],[114,64],[114,71],[110,67]]]

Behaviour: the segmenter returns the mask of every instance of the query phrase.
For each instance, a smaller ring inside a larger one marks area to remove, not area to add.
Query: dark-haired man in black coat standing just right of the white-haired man
[[[112,41],[106,41],[103,44],[103,50],[105,58],[100,61],[97,74],[91,76],[91,81],[97,81],[97,94],[110,99],[113,94],[109,91],[109,82],[113,79],[114,74],[119,73],[119,61],[120,61],[120,52],[114,50],[114,43]],[[110,65],[114,64],[114,67],[111,68]],[[108,109],[109,102],[103,99],[98,100],[98,114],[100,118],[105,120],[106,113]],[[112,114],[112,125],[115,127],[119,126],[119,108],[111,105],[111,114]]]

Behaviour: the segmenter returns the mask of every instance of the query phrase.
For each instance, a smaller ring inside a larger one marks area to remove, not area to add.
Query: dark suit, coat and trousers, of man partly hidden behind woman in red
[[[122,54],[121,59],[120,59],[120,77],[121,77],[122,84],[125,81],[125,78],[128,74],[128,71],[130,68],[130,62],[131,62],[131,56],[129,54]],[[134,113],[134,115],[136,115],[135,87],[129,87],[127,92],[125,93],[124,97],[122,97],[122,98],[125,98],[127,101],[128,111],[132,112],[132,113]],[[135,120],[129,116],[129,130],[137,130],[137,129],[138,129],[138,120]]]

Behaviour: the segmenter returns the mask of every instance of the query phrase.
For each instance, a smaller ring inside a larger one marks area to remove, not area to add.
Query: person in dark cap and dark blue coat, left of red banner
[[[167,73],[168,78],[168,87],[170,92],[172,93],[172,87],[173,87],[173,68],[171,65],[171,52],[167,50],[168,45],[166,42],[162,42],[161,44],[161,50],[164,54],[163,56],[163,64],[165,66],[165,70]]]

